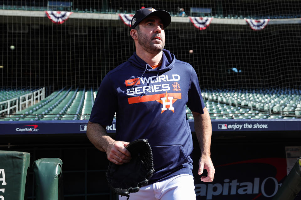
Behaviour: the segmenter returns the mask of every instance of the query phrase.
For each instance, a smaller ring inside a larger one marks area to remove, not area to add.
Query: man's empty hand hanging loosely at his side
[[[199,168],[198,168],[199,175],[203,174],[204,169],[207,170],[207,177],[202,176],[201,181],[212,182],[214,179],[215,169],[214,169],[214,166],[213,166],[210,156],[202,155],[199,160],[198,166],[199,166]]]

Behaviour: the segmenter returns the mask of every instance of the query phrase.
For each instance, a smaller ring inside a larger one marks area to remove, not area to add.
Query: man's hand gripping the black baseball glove
[[[131,154],[125,148],[128,144],[128,142],[122,141],[114,141],[113,143],[110,143],[106,149],[108,160],[117,165],[129,163]]]

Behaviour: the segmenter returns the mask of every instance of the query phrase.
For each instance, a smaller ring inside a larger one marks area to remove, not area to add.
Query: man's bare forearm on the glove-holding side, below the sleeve
[[[106,152],[108,145],[114,143],[114,139],[108,136],[106,129],[98,123],[88,122],[87,137],[96,148],[103,152]]]

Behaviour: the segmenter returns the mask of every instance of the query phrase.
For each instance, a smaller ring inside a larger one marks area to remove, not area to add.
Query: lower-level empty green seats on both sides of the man
[[[63,88],[0,121],[88,120],[96,93],[94,88]],[[0,94],[7,98],[7,91]],[[203,90],[202,95],[211,119],[301,118],[301,90],[297,89]],[[189,108],[186,113],[193,119]]]

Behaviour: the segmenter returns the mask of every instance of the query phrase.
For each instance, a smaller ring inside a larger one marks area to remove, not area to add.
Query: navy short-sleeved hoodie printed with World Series
[[[153,69],[134,53],[103,79],[89,121],[111,125],[116,112],[116,140],[148,139],[155,168],[150,183],[154,183],[192,175],[193,142],[185,105],[203,114],[193,67],[163,49],[162,65]]]

